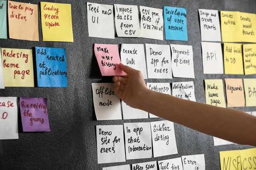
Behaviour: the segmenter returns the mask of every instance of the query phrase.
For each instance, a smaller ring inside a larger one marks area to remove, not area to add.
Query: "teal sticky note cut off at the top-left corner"
[[[7,38],[7,0],[0,0],[0,38]]]

